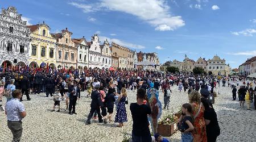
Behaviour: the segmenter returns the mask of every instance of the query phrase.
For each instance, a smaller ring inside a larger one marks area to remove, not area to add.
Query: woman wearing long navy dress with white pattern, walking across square
[[[127,91],[125,87],[122,87],[121,94],[118,97],[117,114],[115,115],[115,123],[119,123],[117,127],[122,127],[123,122],[127,122],[127,114],[125,108],[125,100],[127,97]]]

